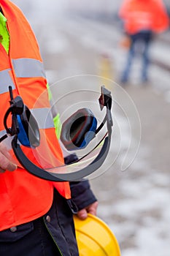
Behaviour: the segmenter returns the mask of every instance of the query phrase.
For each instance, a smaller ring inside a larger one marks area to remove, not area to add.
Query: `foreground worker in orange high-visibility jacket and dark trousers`
[[[45,134],[56,163],[61,165],[63,155],[53,118],[47,115],[50,103],[39,46],[20,9],[11,1],[0,0],[0,135],[5,132],[3,113],[9,105],[9,86],[14,97],[20,95],[34,111],[40,134]],[[23,151],[40,166],[31,148]],[[50,162],[46,147],[40,146],[40,151]],[[88,181],[45,181],[10,159],[0,143],[0,255],[79,255],[73,213],[86,218],[88,212],[96,214],[98,204]]]

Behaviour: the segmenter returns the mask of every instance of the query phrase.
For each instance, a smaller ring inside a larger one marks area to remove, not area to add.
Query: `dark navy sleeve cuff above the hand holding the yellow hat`
[[[85,181],[70,182],[72,201],[77,206],[78,211],[90,206],[97,201],[95,195],[90,189],[90,183]]]

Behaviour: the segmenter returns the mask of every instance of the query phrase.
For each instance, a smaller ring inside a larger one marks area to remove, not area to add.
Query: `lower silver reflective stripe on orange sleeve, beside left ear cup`
[[[36,118],[36,121],[39,124],[39,129],[54,127],[50,108],[34,108],[31,109],[31,113],[33,113],[34,117]]]

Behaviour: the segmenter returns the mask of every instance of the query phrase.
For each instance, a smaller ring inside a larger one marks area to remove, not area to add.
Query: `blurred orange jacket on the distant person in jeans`
[[[169,28],[169,17],[162,0],[125,0],[119,15],[125,21],[128,34],[142,30],[158,33]]]

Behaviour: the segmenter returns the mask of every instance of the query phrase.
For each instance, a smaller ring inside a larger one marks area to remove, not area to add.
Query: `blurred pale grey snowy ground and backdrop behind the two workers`
[[[118,16],[123,1],[13,2],[34,29],[47,78],[55,84],[55,100],[72,89],[99,91],[101,84],[112,91],[111,155],[106,170],[90,181],[99,201],[98,217],[115,233],[123,256],[169,256],[169,29],[152,40],[147,84],[139,79],[137,57],[123,85],[120,75],[128,53]],[[170,14],[169,0],[164,4]]]

